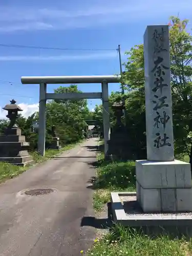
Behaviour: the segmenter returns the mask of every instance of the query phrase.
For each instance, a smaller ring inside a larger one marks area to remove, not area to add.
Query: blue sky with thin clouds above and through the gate
[[[14,98],[24,115],[38,108],[37,84],[20,84],[21,76],[111,75],[119,73],[116,51],[143,42],[147,25],[169,22],[170,15],[190,19],[191,0],[1,0],[1,44],[106,51],[61,51],[0,47],[1,108]],[[191,24],[189,24],[191,27]],[[11,83],[10,83],[10,82]],[[58,85],[48,85],[53,92]],[[83,92],[99,92],[100,84],[79,84]],[[109,90],[118,91],[119,84]],[[89,100],[93,109],[98,100]],[[0,111],[0,118],[5,113]]]

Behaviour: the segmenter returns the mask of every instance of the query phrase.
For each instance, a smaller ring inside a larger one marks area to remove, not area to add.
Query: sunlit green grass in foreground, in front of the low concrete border
[[[115,226],[114,229],[96,239],[87,256],[190,256],[191,241],[170,239],[169,236],[151,238],[133,229]],[[83,254],[83,252],[81,252]]]

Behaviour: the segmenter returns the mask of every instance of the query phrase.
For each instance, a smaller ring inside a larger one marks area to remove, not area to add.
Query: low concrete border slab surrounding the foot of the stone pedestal
[[[192,233],[192,212],[145,214],[136,192],[112,192],[113,221],[126,227],[163,227],[167,232],[176,228],[185,235]],[[126,205],[125,205],[126,204]]]

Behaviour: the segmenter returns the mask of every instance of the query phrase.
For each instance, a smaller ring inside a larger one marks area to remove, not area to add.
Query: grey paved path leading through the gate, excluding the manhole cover
[[[76,256],[95,238],[81,219],[94,216],[93,190],[98,139],[90,139],[59,157],[34,166],[0,185],[1,256]],[[95,148],[94,148],[95,147]],[[22,190],[53,188],[48,195],[26,196]]]

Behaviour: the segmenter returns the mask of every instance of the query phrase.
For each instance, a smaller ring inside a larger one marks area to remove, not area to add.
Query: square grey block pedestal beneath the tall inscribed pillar
[[[136,161],[137,201],[144,212],[192,211],[190,164]]]

